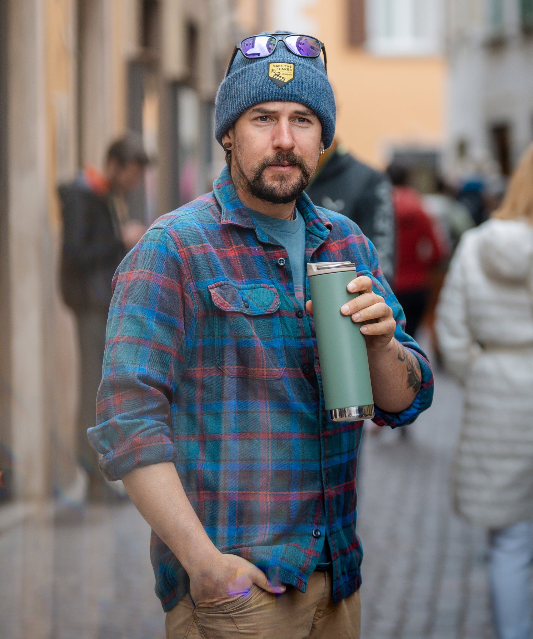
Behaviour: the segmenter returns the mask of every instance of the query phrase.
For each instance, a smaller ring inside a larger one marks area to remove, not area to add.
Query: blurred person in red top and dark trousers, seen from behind
[[[406,332],[415,335],[426,311],[431,276],[447,257],[445,237],[424,211],[417,191],[408,186],[408,173],[392,164],[387,169],[392,182],[392,201],[397,229],[397,263],[392,289],[406,316]]]

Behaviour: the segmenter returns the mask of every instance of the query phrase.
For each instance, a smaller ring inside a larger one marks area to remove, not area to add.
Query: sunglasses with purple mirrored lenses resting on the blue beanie
[[[225,77],[228,77],[228,73],[230,72],[230,68],[238,51],[243,54],[244,58],[248,59],[268,58],[268,56],[274,53],[280,40],[283,40],[285,46],[291,53],[301,58],[319,58],[321,51],[323,51],[324,68],[327,73],[328,59],[326,58],[326,47],[324,47],[324,43],[318,38],[295,33],[261,33],[260,35],[250,36],[250,38],[241,40],[241,42],[235,45]]]

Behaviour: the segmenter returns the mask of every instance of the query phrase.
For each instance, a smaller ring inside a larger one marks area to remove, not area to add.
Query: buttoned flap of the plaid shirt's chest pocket
[[[207,288],[213,303],[223,311],[262,315],[273,313],[280,307],[278,291],[268,284],[236,284],[224,281],[210,284]]]

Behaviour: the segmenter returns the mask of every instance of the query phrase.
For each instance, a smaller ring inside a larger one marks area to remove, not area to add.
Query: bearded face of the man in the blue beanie
[[[322,125],[297,102],[250,107],[223,136],[232,150],[235,186],[274,204],[294,201],[317,167]]]

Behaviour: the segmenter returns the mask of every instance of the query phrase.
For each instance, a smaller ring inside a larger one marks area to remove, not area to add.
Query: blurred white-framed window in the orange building
[[[367,0],[369,49],[383,56],[419,56],[440,50],[436,0]]]

